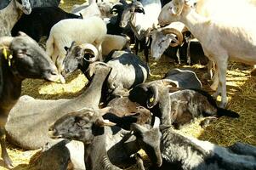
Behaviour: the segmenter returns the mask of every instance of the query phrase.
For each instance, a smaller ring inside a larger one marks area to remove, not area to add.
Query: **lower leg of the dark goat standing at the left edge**
[[[4,164],[9,169],[13,168],[13,161],[10,159],[8,152],[6,150],[6,143],[5,143],[5,129],[4,127],[0,127],[0,144],[2,148],[2,158],[4,161]]]

